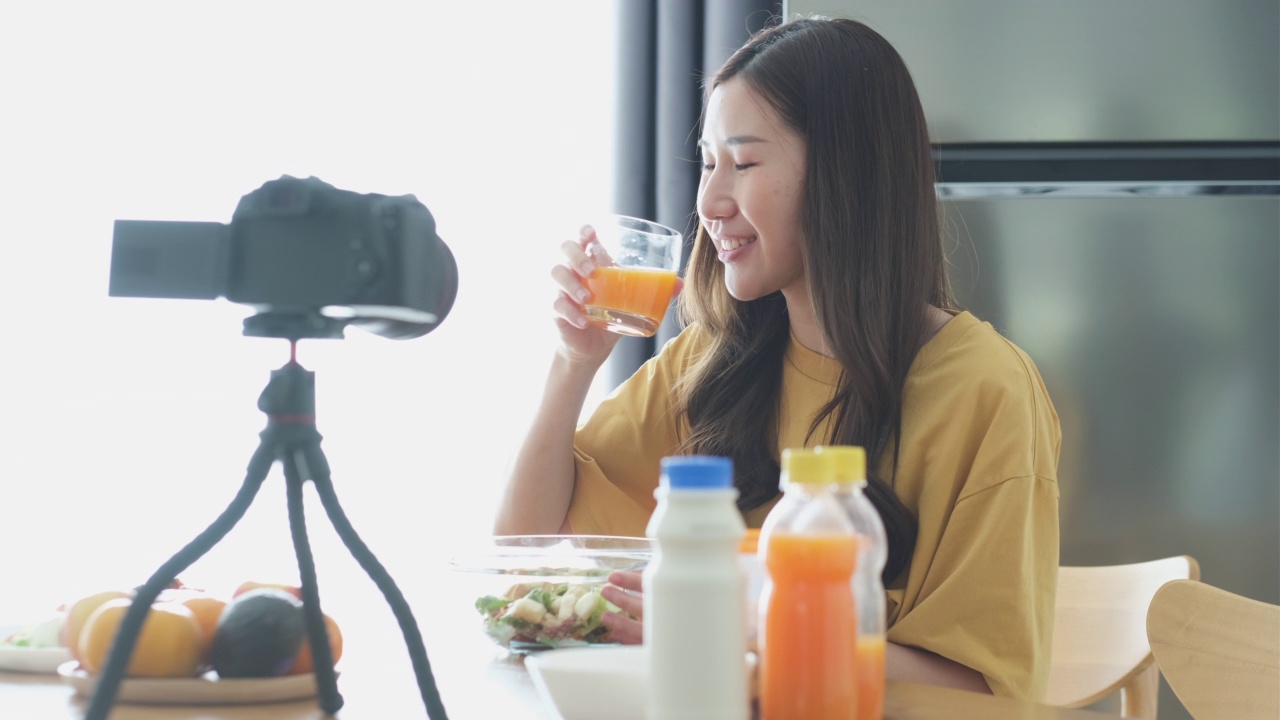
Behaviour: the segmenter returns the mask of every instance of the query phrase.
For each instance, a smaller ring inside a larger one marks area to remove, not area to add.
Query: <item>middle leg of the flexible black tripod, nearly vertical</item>
[[[298,459],[292,452],[283,452],[280,462],[284,465],[289,532],[293,534],[293,551],[298,557],[298,574],[302,578],[302,612],[306,618],[307,638],[311,641],[311,655],[315,659],[312,665],[320,696],[320,710],[334,715],[342,710],[343,700],[342,694],[338,693],[338,679],[334,675],[329,632],[325,629],[324,614],[320,611],[320,588],[316,582],[311,542],[307,539],[307,521],[302,501],[302,474],[298,471]]]

